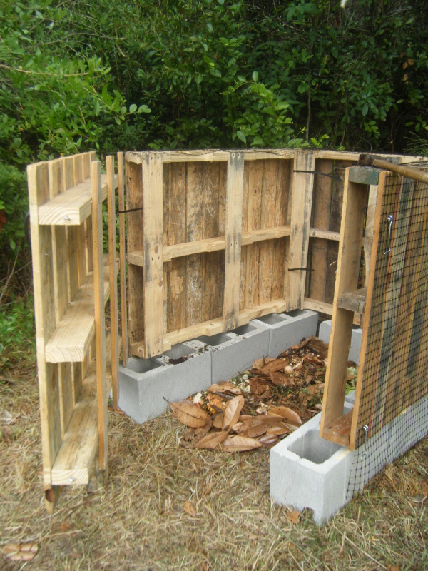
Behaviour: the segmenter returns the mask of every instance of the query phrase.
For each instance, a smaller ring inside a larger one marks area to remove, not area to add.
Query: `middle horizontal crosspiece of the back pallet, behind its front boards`
[[[248,246],[255,242],[263,240],[275,240],[275,238],[283,238],[290,236],[290,226],[277,226],[277,228],[267,228],[266,230],[253,230],[252,232],[245,232],[241,235],[241,246]],[[180,258],[181,256],[191,256],[192,254],[199,254],[202,252],[215,252],[225,249],[225,238],[223,236],[218,238],[206,238],[205,240],[195,240],[194,242],[185,242],[182,244],[175,244],[174,246],[164,246],[163,262],[169,262],[173,258]],[[143,251],[128,252],[128,263],[134,266],[143,267]]]

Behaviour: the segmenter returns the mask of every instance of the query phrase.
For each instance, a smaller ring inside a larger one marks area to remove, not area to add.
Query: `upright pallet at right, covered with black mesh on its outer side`
[[[357,290],[376,183],[367,288]],[[354,450],[427,394],[428,184],[357,167],[348,169],[345,195],[320,435]],[[355,406],[343,416],[352,318],[362,312]]]

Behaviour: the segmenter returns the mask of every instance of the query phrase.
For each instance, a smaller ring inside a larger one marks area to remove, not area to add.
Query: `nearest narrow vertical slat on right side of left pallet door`
[[[104,318],[103,283],[103,212],[101,200],[101,163],[91,163],[92,229],[93,229],[93,293],[95,301],[96,382],[98,410],[98,468],[103,479],[108,477],[106,323]]]

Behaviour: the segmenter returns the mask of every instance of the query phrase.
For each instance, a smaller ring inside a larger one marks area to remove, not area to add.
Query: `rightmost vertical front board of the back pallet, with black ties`
[[[298,150],[292,184],[288,310],[302,309],[305,299],[307,248],[309,246],[315,153]]]

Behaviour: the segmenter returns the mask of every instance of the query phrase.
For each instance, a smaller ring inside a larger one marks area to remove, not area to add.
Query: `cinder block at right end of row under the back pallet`
[[[315,311],[295,310],[290,313],[270,313],[251,323],[260,323],[269,330],[269,357],[277,357],[297,345],[303,338],[317,332],[318,314]]]

